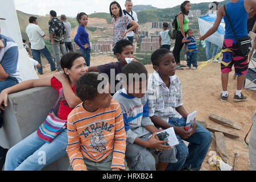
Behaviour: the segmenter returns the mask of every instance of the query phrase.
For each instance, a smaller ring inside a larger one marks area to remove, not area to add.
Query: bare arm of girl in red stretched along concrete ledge
[[[5,110],[1,104],[4,104],[6,107],[8,106],[8,94],[10,93],[15,93],[15,92],[20,92],[22,90],[34,88],[37,86],[51,86],[51,77],[44,77],[44,78],[39,78],[35,80],[27,80],[20,82],[19,84],[16,84],[14,86],[11,86],[5,90],[2,90],[0,93],[0,109]]]

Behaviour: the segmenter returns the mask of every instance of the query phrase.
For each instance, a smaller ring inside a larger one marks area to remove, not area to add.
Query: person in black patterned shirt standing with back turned
[[[61,71],[60,67],[60,51],[62,55],[67,53],[65,44],[64,44],[64,37],[63,35],[66,33],[65,27],[63,22],[60,19],[57,19],[56,11],[50,11],[50,20],[49,20],[49,35],[51,38],[52,47],[55,53],[55,61],[57,64],[57,70]]]

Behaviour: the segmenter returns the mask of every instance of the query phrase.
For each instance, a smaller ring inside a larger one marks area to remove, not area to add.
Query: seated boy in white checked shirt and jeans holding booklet
[[[148,107],[152,122],[162,129],[174,127],[179,144],[176,145],[177,163],[167,170],[199,170],[207,155],[212,135],[204,127],[193,124],[192,131],[185,131],[188,113],[183,107],[181,82],[175,75],[174,55],[165,48],[156,50],[151,61],[155,72],[148,81]],[[189,142],[187,147],[183,140]]]

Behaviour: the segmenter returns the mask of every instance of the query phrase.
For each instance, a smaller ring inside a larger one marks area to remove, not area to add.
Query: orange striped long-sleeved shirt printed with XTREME
[[[111,168],[125,169],[126,133],[117,101],[94,113],[86,111],[81,103],[68,115],[67,128],[67,153],[75,171],[86,170],[82,155],[100,162],[112,152]]]

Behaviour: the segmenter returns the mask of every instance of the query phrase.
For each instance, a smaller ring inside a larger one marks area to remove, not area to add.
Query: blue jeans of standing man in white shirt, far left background
[[[56,65],[53,61],[52,55],[49,52],[48,48],[45,46],[43,49],[36,50],[36,49],[31,49],[32,50],[32,55],[35,58],[36,61],[41,65],[41,67],[38,68],[38,73],[42,74],[43,73],[43,67],[42,67],[42,62],[41,62],[41,53],[46,57],[48,63],[51,65],[51,71],[56,69]]]

